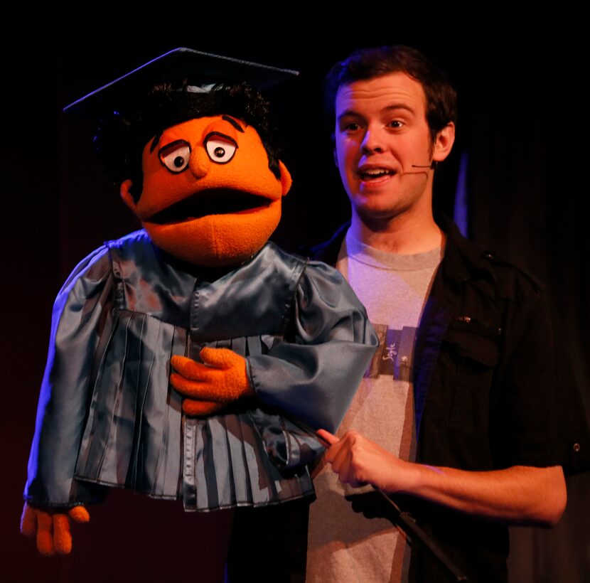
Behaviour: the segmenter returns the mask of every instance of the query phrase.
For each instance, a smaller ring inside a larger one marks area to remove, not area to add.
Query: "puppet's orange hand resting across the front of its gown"
[[[170,384],[189,397],[183,402],[184,412],[208,415],[240,397],[254,395],[243,356],[227,348],[203,348],[199,355],[203,363],[176,355],[170,360],[176,370]]]

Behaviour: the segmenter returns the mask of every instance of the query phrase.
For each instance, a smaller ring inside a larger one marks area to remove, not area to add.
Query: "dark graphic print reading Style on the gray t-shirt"
[[[394,380],[412,380],[412,355],[417,328],[404,326],[401,330],[392,330],[385,324],[372,323],[372,326],[379,337],[379,348],[365,371],[365,378],[389,375]]]

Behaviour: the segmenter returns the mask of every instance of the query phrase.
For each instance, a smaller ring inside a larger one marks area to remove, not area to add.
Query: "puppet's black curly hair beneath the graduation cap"
[[[139,200],[143,188],[141,154],[148,141],[168,127],[196,117],[226,114],[257,130],[269,159],[269,169],[280,178],[279,149],[272,140],[269,102],[247,83],[215,85],[210,92],[191,92],[185,80],[178,85],[156,85],[130,112],[113,112],[100,122],[95,137],[104,170],[117,184],[131,178],[132,196]],[[156,140],[157,141],[157,140]]]

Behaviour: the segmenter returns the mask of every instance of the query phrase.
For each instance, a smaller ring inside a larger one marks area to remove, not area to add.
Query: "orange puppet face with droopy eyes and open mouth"
[[[174,257],[218,266],[246,260],[267,242],[281,218],[291,177],[269,170],[256,130],[226,115],[200,117],[166,129],[144,147],[144,186],[124,202],[151,240]]]

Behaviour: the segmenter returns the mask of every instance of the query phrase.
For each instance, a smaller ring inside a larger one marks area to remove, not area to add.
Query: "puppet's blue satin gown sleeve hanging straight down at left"
[[[100,486],[73,476],[89,406],[92,358],[113,284],[109,252],[100,247],[77,265],[55,299],[24,491],[29,503],[69,507],[104,496]]]

